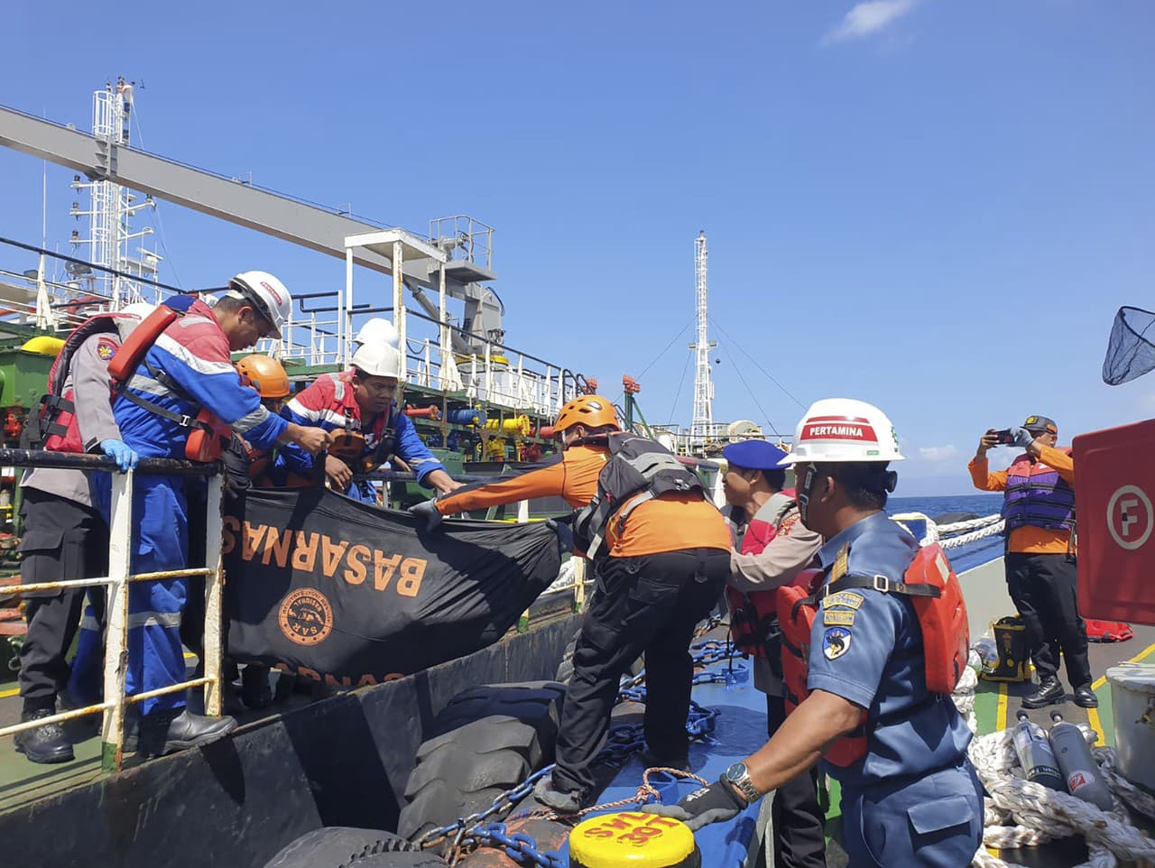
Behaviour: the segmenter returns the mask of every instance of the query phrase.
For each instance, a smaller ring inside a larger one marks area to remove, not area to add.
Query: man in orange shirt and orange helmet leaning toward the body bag
[[[583,395],[571,401],[554,433],[562,451],[539,466],[459,488],[412,511],[435,526],[445,515],[534,497],[561,496],[574,508],[587,508],[584,518],[579,514],[576,536],[594,558],[597,591],[574,650],[558,764],[535,791],[543,805],[573,813],[594,787],[590,768],[605,744],[618,680],[642,653],[649,763],[685,768],[690,643],[730,574],[730,532],[698,477],[654,441],[621,433],[605,398]],[[625,457],[639,455],[647,461],[633,465]],[[663,470],[644,481],[639,473],[623,488],[631,467],[642,464]],[[616,491],[625,496],[616,496]],[[589,510],[591,501],[613,508]]]

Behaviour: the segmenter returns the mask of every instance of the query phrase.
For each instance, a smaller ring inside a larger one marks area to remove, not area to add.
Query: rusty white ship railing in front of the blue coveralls
[[[95,578],[77,578],[58,582],[0,588],[0,597],[29,591],[66,591],[76,588],[106,589],[106,626],[104,644],[104,701],[59,714],[37,718],[13,726],[0,727],[0,736],[15,735],[47,724],[102,712],[100,766],[105,772],[119,771],[124,760],[125,712],[135,703],[157,696],[174,694],[191,688],[203,688],[204,711],[219,717],[222,706],[221,660],[223,573],[221,566],[221,495],[222,477],[216,464],[199,464],[171,458],[142,458],[136,469],[127,473],[114,472],[111,458],[70,452],[29,451],[23,449],[0,449],[0,465],[12,467],[62,467],[81,470],[85,473],[111,472],[112,500],[109,518],[109,575]],[[133,509],[134,480],[139,474],[192,476],[208,478],[208,510],[206,524],[206,564],[201,568],[165,570],[158,573],[132,573],[132,534],[136,526]],[[157,582],[172,578],[203,576],[204,589],[204,675],[127,696],[125,676],[128,666],[128,588],[134,582]]]

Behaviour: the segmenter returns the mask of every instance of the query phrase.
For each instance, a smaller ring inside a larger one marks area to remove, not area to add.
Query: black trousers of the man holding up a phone
[[[1040,678],[1058,674],[1061,651],[1071,687],[1089,686],[1087,624],[1079,616],[1074,558],[1009,552],[1006,570],[1007,590],[1027,627],[1027,644]]]

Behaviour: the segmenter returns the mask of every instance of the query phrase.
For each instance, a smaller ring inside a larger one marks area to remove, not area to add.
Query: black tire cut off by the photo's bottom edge
[[[393,832],[325,826],[306,832],[264,868],[444,868],[435,853],[420,851]]]

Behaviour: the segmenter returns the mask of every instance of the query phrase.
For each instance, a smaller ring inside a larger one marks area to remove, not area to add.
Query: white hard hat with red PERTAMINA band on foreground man
[[[793,449],[778,462],[902,461],[899,435],[886,413],[854,398],[824,398],[811,404],[795,431]]]

